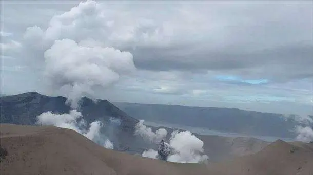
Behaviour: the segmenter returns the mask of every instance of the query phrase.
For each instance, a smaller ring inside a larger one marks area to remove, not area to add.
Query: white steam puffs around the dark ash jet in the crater
[[[137,123],[137,125],[135,126],[135,134],[140,135],[144,139],[148,139],[152,142],[157,142],[157,140],[166,137],[166,129],[162,128],[162,132],[160,132],[159,129],[159,132],[157,131],[153,133],[152,129],[150,127],[147,127],[143,123],[144,120],[140,120],[140,122]],[[169,155],[167,160],[170,162],[201,163],[208,160],[208,156],[203,154],[203,141],[195,137],[189,131],[179,132],[178,130],[175,130],[174,132],[172,132],[171,138],[169,140],[169,145],[171,149],[171,154]],[[149,157],[153,159],[157,159],[157,155],[158,152],[154,149],[145,150],[142,153],[143,157]]]

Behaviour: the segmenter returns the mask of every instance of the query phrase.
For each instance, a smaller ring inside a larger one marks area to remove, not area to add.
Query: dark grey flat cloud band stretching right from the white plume
[[[270,79],[313,77],[313,45],[293,45],[252,52],[206,51],[175,55],[162,49],[134,52],[137,68],[154,71],[225,71]],[[262,68],[261,70],[259,70]],[[292,71],[291,71],[292,70]]]

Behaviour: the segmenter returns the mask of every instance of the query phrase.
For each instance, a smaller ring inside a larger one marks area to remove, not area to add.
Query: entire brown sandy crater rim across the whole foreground
[[[105,149],[73,130],[0,124],[0,174],[313,174],[313,146],[276,141],[226,162],[179,164]]]

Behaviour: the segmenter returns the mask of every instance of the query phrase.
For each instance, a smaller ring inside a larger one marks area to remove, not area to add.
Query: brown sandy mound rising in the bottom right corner
[[[310,147],[313,147],[311,144]],[[223,167],[227,169],[221,170]],[[214,173],[248,174],[313,174],[313,151],[277,140],[256,154],[210,165]]]

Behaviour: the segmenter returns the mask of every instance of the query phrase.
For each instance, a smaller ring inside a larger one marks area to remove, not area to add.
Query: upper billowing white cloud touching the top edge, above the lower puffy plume
[[[95,1],[81,2],[70,11],[55,15],[46,30],[34,26],[27,28],[24,38],[36,39],[38,46],[50,46],[64,38],[75,41],[91,39],[106,47],[134,47],[135,45],[162,44],[167,38],[164,26],[153,20],[136,18],[133,14],[117,14],[105,4]]]

